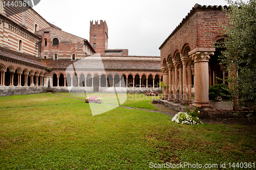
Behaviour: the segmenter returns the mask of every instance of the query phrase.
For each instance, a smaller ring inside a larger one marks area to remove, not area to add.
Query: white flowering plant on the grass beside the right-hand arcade
[[[195,110],[190,110],[188,107],[186,112],[179,112],[173,118],[172,121],[177,124],[187,124],[187,125],[198,125],[202,124],[199,120],[199,113],[198,106]]]

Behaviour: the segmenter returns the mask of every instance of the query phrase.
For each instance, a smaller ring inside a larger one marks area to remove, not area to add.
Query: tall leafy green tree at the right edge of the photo
[[[225,48],[222,63],[229,72],[227,82],[239,106],[255,109],[256,102],[256,0],[248,3],[227,0],[229,26],[223,26],[228,38],[219,44]],[[217,45],[218,46],[218,45]],[[236,100],[234,100],[236,101]]]

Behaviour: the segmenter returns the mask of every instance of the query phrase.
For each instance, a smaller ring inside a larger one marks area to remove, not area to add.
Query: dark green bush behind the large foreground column
[[[210,86],[209,100],[214,100],[215,102],[232,100],[228,86],[225,84],[215,84]]]

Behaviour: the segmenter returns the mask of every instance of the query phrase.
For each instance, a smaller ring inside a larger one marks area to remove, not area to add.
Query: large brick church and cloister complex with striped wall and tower
[[[63,32],[28,6],[13,9],[4,7],[4,1],[0,0],[0,95],[39,93],[49,87],[68,91],[67,86],[87,92],[108,92],[113,87],[160,92],[160,56],[109,50],[105,21],[91,22],[89,42]],[[101,55],[104,72],[97,61],[84,62],[75,72],[68,70],[95,53]]]

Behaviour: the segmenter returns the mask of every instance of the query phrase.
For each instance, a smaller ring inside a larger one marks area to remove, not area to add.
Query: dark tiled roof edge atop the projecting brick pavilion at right
[[[223,6],[223,8],[228,8],[227,6]],[[163,46],[163,44],[183,25],[183,23],[187,20],[187,18],[192,15],[197,9],[219,9],[221,10],[222,9],[222,6],[201,6],[199,4],[196,4],[191,10],[190,12],[187,14],[187,16],[185,18],[183,18],[183,20],[180,22],[179,26],[176,27],[176,29],[172,32],[172,34],[170,34],[165,40],[164,42],[160,45],[159,47],[159,50],[160,48]]]

